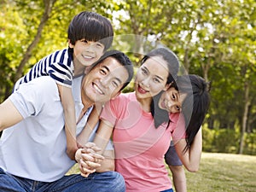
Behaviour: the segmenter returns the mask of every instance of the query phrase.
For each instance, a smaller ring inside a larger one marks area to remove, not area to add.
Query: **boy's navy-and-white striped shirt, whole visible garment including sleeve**
[[[71,88],[73,69],[72,49],[57,50],[38,61],[25,76],[20,78],[15,84],[15,90],[19,89],[20,84],[41,76],[50,76],[57,84]]]

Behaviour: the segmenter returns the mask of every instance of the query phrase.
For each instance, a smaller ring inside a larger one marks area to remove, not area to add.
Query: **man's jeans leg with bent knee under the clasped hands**
[[[73,174],[49,183],[47,189],[49,192],[125,192],[125,180],[118,172],[92,173],[89,177]]]

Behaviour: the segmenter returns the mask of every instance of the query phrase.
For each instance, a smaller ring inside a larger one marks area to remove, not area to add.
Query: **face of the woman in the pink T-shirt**
[[[137,71],[135,78],[135,91],[137,99],[152,98],[167,90],[166,84],[169,75],[166,61],[161,56],[148,58]]]

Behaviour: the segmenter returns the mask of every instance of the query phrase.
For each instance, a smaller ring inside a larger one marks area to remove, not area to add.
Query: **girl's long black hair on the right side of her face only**
[[[188,80],[190,81],[189,85]],[[207,110],[210,106],[208,85],[209,83],[205,79],[195,74],[183,75],[177,78],[178,91],[187,94],[182,105],[187,142],[184,151],[188,150],[194,142],[195,135],[200,130],[207,115]]]

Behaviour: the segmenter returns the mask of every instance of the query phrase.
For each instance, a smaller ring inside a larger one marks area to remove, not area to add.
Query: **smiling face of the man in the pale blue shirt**
[[[125,67],[110,56],[85,75],[82,82],[82,101],[108,102],[119,94],[127,79],[128,72]]]

